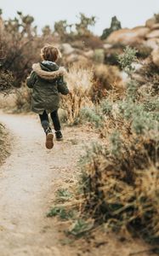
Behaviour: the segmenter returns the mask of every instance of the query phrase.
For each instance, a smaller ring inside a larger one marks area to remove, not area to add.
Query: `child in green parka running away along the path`
[[[46,133],[46,148],[54,146],[53,132],[48,121],[48,113],[53,120],[55,137],[62,140],[58,108],[60,107],[60,93],[67,95],[69,90],[63,76],[65,68],[55,63],[60,56],[59,49],[47,44],[41,49],[42,62],[33,64],[32,72],[26,79],[26,84],[32,88],[31,110],[39,114],[43,130]]]

